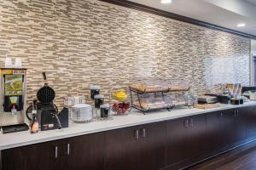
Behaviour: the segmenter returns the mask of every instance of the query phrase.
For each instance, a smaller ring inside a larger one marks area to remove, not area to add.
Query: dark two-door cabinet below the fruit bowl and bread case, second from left
[[[166,122],[126,127],[106,134],[108,170],[165,167]]]

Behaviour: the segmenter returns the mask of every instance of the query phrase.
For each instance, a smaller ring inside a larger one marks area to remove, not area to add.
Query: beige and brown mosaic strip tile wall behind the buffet
[[[44,85],[67,95],[103,94],[132,77],[173,77],[202,94],[214,84],[250,83],[250,40],[97,0],[0,0],[0,65],[20,57],[31,101]],[[89,98],[88,98],[89,99]]]

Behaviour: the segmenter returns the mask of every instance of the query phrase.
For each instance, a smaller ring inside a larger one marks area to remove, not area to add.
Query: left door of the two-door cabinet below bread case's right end
[[[189,117],[166,122],[166,164],[184,161],[189,155]]]

